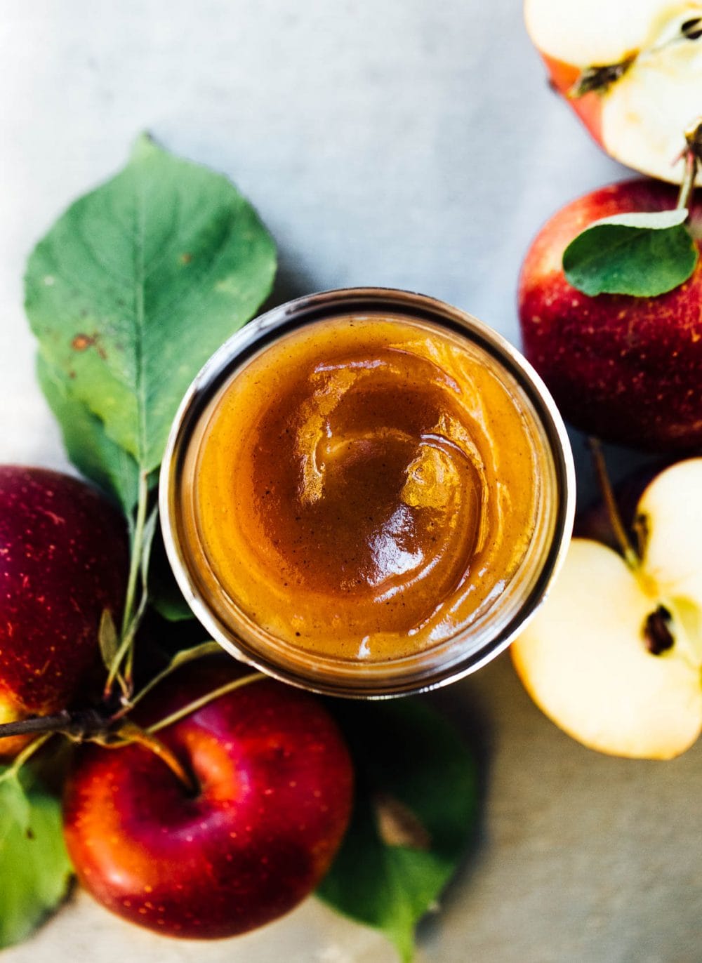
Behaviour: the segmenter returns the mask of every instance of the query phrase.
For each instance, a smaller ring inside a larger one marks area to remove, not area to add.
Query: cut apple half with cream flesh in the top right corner
[[[680,183],[684,131],[700,113],[698,0],[526,0],[527,30],[552,85],[615,160]],[[574,96],[584,70],[610,82]],[[612,79],[613,78],[613,79]],[[697,183],[702,184],[702,175]]]

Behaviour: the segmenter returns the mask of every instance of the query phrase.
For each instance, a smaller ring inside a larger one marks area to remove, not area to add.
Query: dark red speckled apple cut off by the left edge
[[[103,609],[118,620],[123,520],[83,481],[0,465],[0,716],[44,715],[91,692]],[[0,740],[13,755],[26,740]]]

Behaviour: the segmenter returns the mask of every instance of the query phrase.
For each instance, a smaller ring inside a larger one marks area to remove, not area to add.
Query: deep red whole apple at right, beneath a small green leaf
[[[702,444],[702,264],[658,298],[573,288],[563,250],[592,221],[675,206],[677,190],[645,178],[580,197],[548,221],[522,267],[524,351],[563,416],[609,441],[653,451]],[[702,195],[690,223],[702,248]]]

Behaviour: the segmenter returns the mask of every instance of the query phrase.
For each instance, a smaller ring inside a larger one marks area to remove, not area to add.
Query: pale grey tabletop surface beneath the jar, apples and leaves
[[[251,198],[280,247],[279,299],[407,287],[512,339],[516,276],[538,225],[624,173],[548,91],[520,0],[5,0],[0,81],[3,461],[65,467],[33,380],[23,266],[143,129]],[[421,961],[700,963],[702,745],[669,764],[588,752],[533,708],[506,657],[437,701],[476,746],[483,809],[441,918],[422,927]],[[200,946],[157,940],[84,896],[4,955],[281,957],[394,959],[314,900]]]

